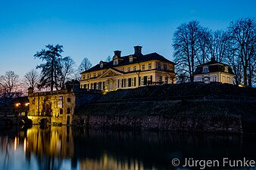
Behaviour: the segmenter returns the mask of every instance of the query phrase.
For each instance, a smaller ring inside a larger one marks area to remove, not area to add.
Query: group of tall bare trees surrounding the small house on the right
[[[195,20],[178,26],[173,35],[177,82],[192,82],[195,66],[214,58],[233,68],[235,84],[252,86],[256,82],[255,26],[251,18],[232,21],[226,31],[211,31]]]

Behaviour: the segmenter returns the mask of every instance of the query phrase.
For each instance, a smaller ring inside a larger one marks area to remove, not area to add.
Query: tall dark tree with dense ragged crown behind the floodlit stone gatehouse
[[[54,87],[58,90],[59,77],[61,76],[61,53],[63,52],[62,45],[46,45],[45,49],[36,52],[35,58],[39,58],[46,63],[41,63],[36,66],[36,69],[41,70],[41,79],[39,88],[50,87],[53,91]]]

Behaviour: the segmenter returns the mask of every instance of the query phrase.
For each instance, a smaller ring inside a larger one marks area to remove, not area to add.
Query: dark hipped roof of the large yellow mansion
[[[103,68],[101,68],[100,64],[98,63],[97,65],[93,66],[89,70],[84,71],[83,73],[89,73],[92,71],[97,71],[97,70],[108,69],[108,68],[113,68],[113,67],[117,67],[117,66],[124,66],[124,65],[131,64],[130,63],[131,56],[134,57],[133,63],[141,63],[141,62],[148,61],[148,60],[161,60],[164,62],[173,63],[172,61],[167,60],[165,57],[161,56],[158,53],[151,53],[151,54],[145,54],[145,55],[141,54],[139,56],[136,56],[135,54],[133,54],[133,55],[127,55],[124,57],[119,57],[118,65],[116,65],[116,66],[113,65],[113,60],[111,60],[110,62],[103,62],[103,64],[104,64]]]

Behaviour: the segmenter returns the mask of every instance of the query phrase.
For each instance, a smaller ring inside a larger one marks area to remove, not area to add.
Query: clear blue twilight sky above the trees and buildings
[[[158,54],[173,60],[177,26],[198,20],[210,29],[256,16],[255,0],[6,0],[0,2],[0,75],[13,70],[20,78],[42,61],[36,51],[47,44],[64,46],[63,57],[93,65],[114,55]]]

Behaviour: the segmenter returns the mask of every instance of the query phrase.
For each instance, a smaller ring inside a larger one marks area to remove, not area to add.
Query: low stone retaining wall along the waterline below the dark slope
[[[164,131],[242,133],[241,116],[73,116],[73,125]]]

